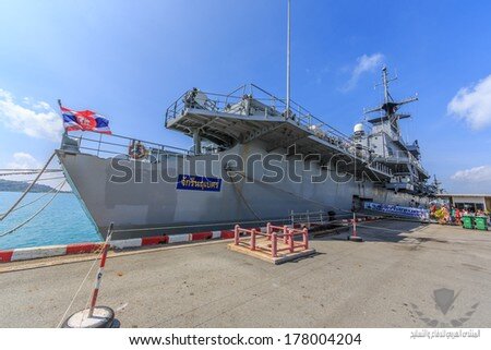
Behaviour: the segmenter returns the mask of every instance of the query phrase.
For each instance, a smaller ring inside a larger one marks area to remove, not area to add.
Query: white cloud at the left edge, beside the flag
[[[61,117],[45,101],[15,104],[11,93],[0,88],[0,123],[28,136],[59,141],[63,132]]]

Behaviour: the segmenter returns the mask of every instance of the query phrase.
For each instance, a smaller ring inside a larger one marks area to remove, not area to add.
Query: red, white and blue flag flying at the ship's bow
[[[92,110],[71,110],[60,105],[63,116],[63,126],[67,131],[94,131],[103,134],[111,134],[109,120]]]

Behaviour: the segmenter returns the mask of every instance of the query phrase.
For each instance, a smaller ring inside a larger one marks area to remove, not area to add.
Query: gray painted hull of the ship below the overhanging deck
[[[215,157],[267,155],[265,149],[264,143],[255,141],[238,144]],[[141,178],[115,183],[111,177],[120,176],[120,172],[111,166],[111,158],[67,150],[57,150],[57,155],[69,183],[99,233],[104,237],[109,224],[113,222],[117,230],[115,239],[230,229],[236,224],[256,227],[266,221],[287,221],[291,212],[333,210],[338,217],[348,216],[354,196],[403,206],[427,201],[408,193],[396,193],[370,181],[351,179],[337,182],[327,178],[321,183],[312,183],[312,173],[332,170],[321,169],[315,164],[308,167],[303,162],[300,169],[297,166],[296,173],[301,177],[299,182],[284,179],[277,183],[249,183],[246,178],[231,182],[221,179],[219,191],[192,191],[178,189],[176,180],[164,181],[155,177],[157,166],[148,161],[121,160],[120,164],[133,168],[137,162]],[[192,158],[205,164],[211,157]],[[212,178],[219,178],[223,172],[219,162],[212,169],[197,166],[190,170],[180,159],[176,157],[175,162],[166,164],[165,170],[175,176]],[[254,167],[248,179],[261,179],[266,172],[262,167]]]

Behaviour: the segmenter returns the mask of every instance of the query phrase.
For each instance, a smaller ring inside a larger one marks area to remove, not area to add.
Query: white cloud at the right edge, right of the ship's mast
[[[491,125],[491,75],[474,86],[463,87],[447,106],[448,114],[464,119],[470,128]]]

